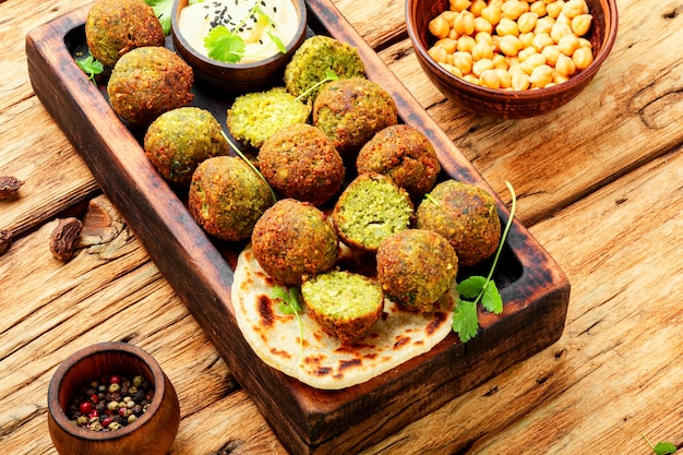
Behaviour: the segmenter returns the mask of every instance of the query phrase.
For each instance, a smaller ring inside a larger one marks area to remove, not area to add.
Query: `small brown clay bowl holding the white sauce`
[[[286,52],[249,63],[226,63],[196,51],[180,32],[179,14],[188,0],[175,0],[171,11],[171,37],[178,55],[193,68],[196,82],[219,93],[254,92],[281,85],[285,65],[305,39],[307,10],[304,0],[292,0],[298,12],[295,38],[285,44]]]

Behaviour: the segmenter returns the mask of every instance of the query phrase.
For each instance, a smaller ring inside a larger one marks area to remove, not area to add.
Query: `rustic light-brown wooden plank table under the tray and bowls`
[[[25,36],[83,0],[0,1],[0,453],[55,454],[47,386],[68,356],[125,340],[152,354],[181,403],[172,454],[284,454],[264,418],[36,98]],[[620,32],[589,87],[558,111],[494,120],[454,106],[421,72],[404,2],[342,13],[510,202],[572,283],[558,343],[366,454],[647,454],[683,446],[683,0],[620,0]],[[58,218],[108,220],[68,263]],[[103,216],[107,214],[107,216]]]

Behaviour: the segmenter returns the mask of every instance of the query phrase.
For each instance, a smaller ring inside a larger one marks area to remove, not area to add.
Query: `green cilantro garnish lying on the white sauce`
[[[235,31],[241,31],[247,20],[254,14],[256,15],[256,23],[247,39],[235,33]],[[247,16],[242,19],[233,29],[229,29],[225,25],[213,27],[204,38],[204,47],[208,51],[208,57],[212,59],[227,63],[237,63],[244,57],[247,44],[257,41],[264,29],[274,26],[275,23],[271,16],[267,15],[259,4],[254,4],[247,13]],[[267,32],[267,35],[280,52],[287,52],[287,48],[278,36],[271,31]]]

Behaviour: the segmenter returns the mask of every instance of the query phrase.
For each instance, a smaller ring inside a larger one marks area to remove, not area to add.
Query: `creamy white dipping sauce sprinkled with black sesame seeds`
[[[272,25],[265,29],[254,27],[254,20],[249,12],[259,3],[259,8],[271,19]],[[197,52],[207,56],[204,38],[218,25],[225,25],[231,32],[244,24],[238,35],[244,39],[244,55],[239,63],[265,60],[279,52],[267,32],[279,37],[284,46],[293,38],[299,25],[299,15],[291,0],[203,0],[188,4],[178,16],[180,34]],[[208,57],[208,56],[207,56]]]

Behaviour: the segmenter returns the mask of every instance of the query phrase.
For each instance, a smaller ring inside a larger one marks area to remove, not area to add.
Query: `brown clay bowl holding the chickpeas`
[[[573,99],[586,88],[610,53],[616,39],[616,1],[586,0],[586,3],[592,14],[592,25],[584,37],[592,44],[592,64],[561,84],[524,92],[488,88],[466,82],[444,70],[427,53],[435,41],[428,24],[448,9],[448,0],[406,0],[406,24],[422,70],[447,98],[482,116],[520,119],[549,112]]]

